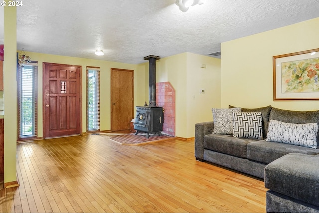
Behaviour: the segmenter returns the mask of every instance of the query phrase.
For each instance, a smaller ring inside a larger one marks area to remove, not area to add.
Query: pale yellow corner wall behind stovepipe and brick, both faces
[[[202,64],[206,69],[201,68]],[[148,62],[137,67],[141,91],[144,86],[137,100],[140,105],[149,102],[148,69]],[[188,52],[161,58],[156,61],[156,82],[166,81],[176,91],[176,136],[194,137],[195,124],[212,120],[211,108],[220,107],[220,59]]]

